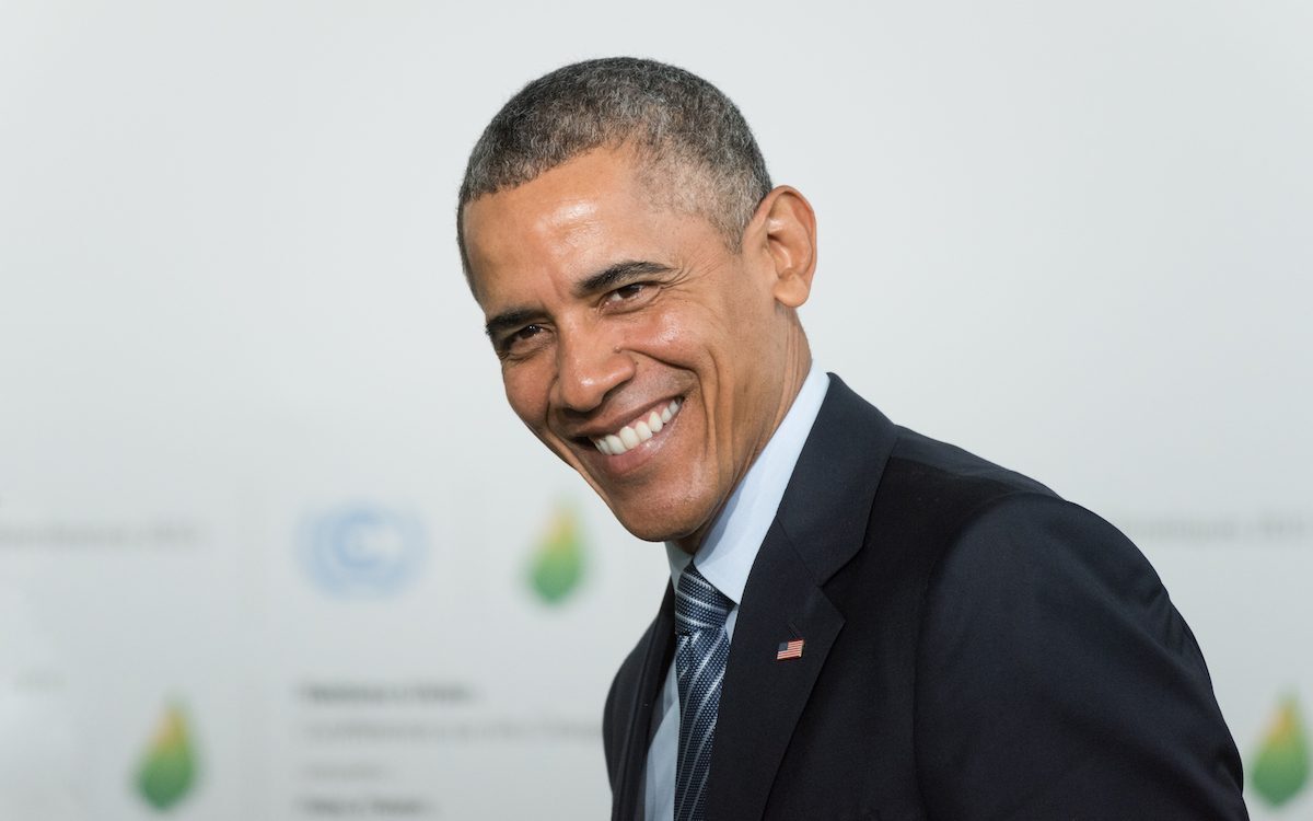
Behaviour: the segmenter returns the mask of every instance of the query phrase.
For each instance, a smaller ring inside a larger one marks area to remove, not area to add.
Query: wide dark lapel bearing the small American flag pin
[[[758,552],[725,671],[708,818],[760,818],[844,619],[825,583],[863,548],[894,426],[838,377]],[[801,658],[777,659],[804,640]]]

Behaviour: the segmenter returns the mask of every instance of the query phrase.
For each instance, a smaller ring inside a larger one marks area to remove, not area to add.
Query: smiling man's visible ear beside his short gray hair
[[[762,200],[744,242],[752,242],[775,269],[771,293],[785,307],[798,307],[811,293],[817,269],[817,217],[796,188],[780,185]]]

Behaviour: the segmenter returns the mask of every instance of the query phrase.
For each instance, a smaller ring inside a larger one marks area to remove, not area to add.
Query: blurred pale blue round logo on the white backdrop
[[[310,578],[328,592],[382,596],[415,578],[425,546],[414,516],[376,504],[347,504],[306,524],[302,561]]]

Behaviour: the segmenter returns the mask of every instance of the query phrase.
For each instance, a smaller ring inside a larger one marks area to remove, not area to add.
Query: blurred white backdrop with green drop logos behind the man
[[[638,54],[811,198],[819,361],[1127,529],[1254,816],[1313,818],[1309,42],[1293,0],[4,3],[0,817],[605,816],[664,560],[506,407],[452,211],[520,85]]]

